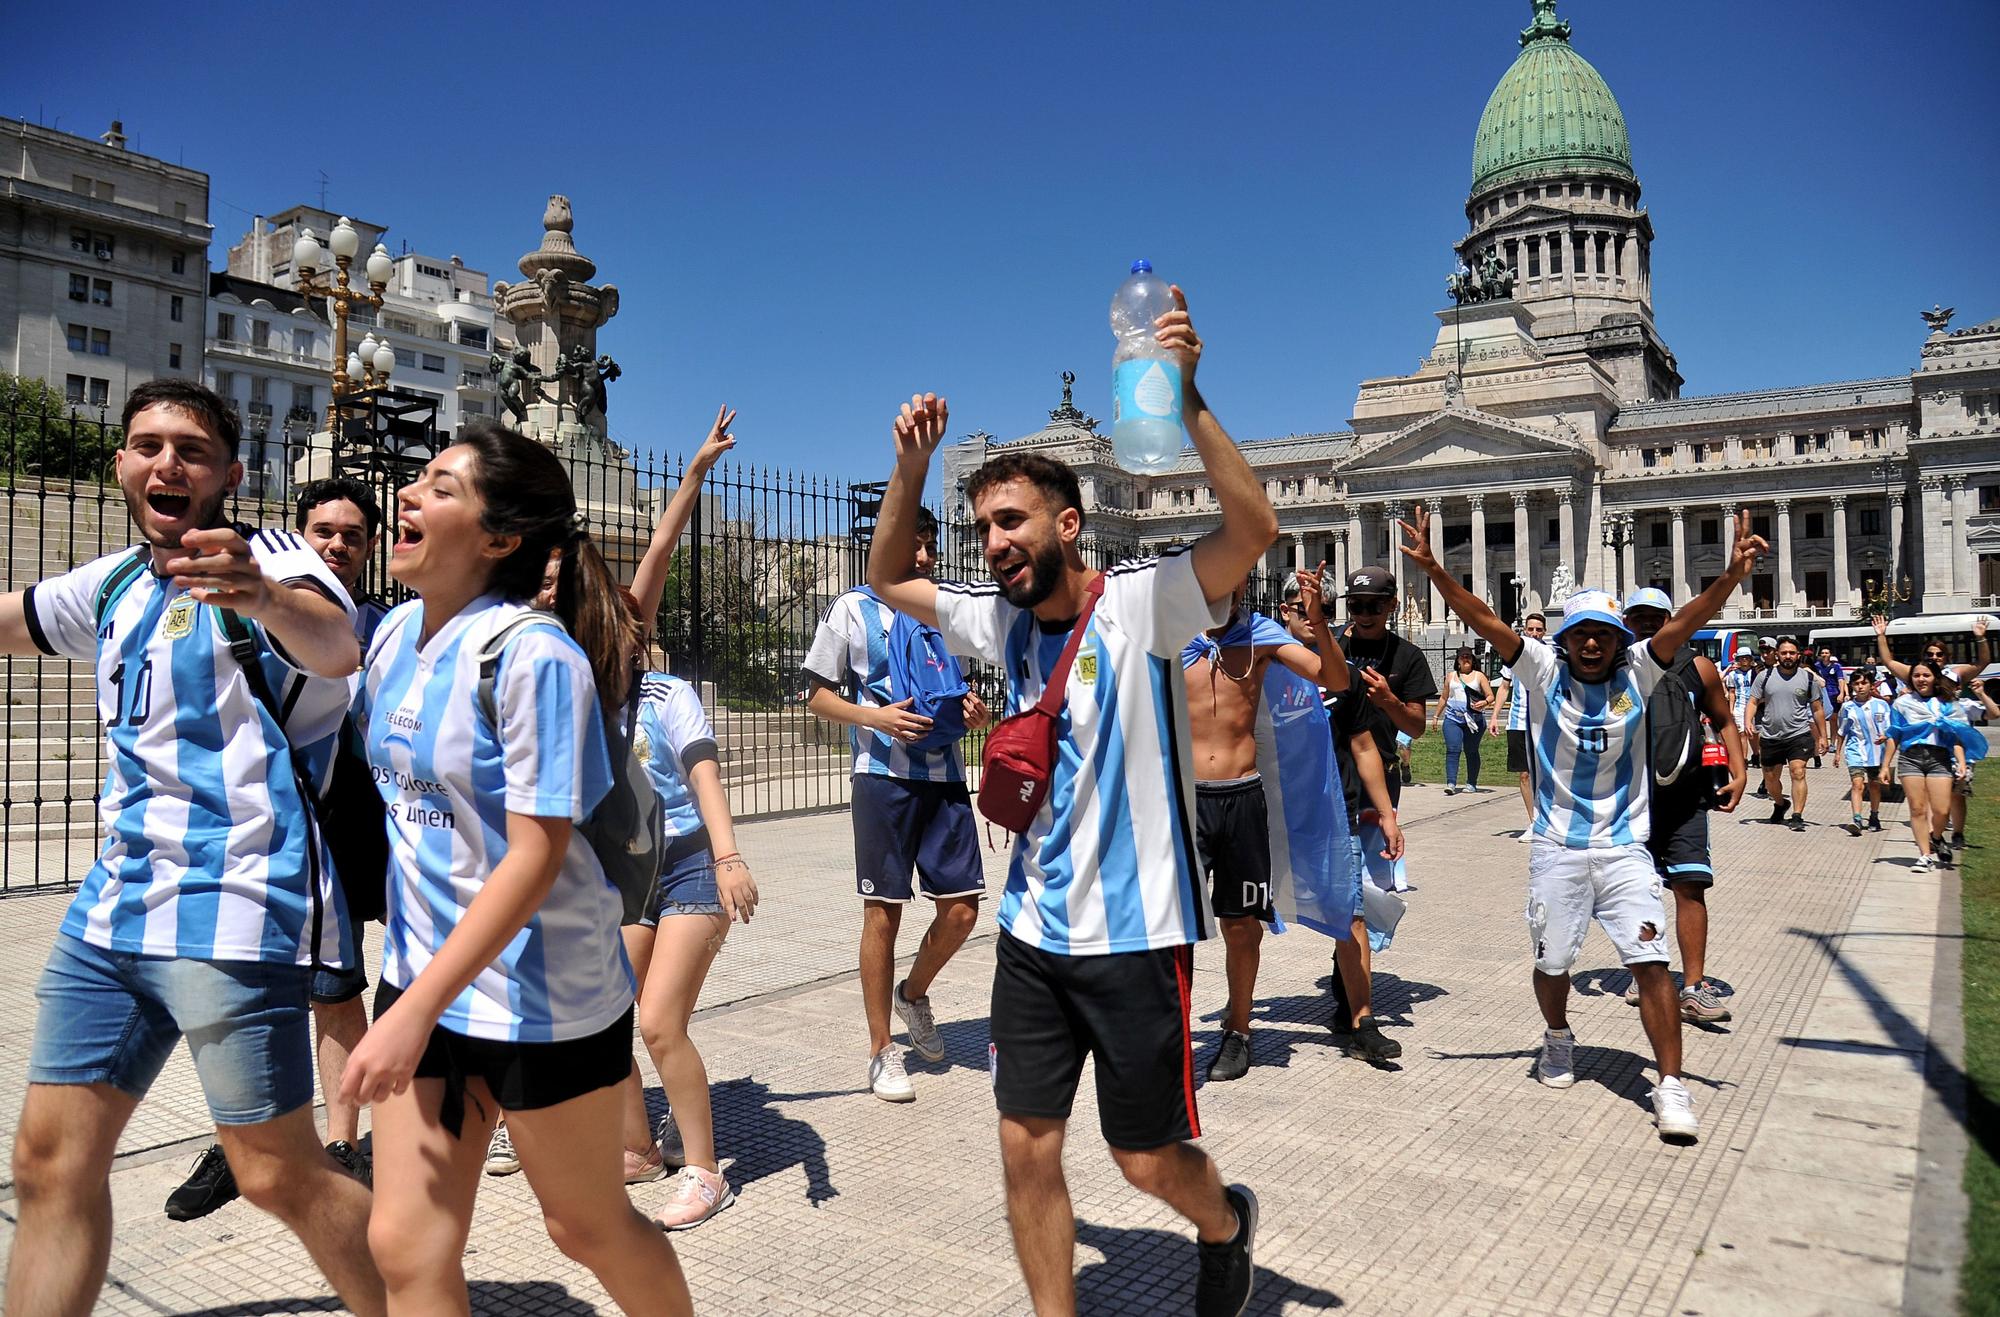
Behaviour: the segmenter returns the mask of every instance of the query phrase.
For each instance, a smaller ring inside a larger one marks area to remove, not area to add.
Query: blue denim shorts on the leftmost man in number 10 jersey
[[[104,951],[56,935],[34,995],[28,1083],[146,1097],[188,1039],[216,1125],[260,1125],[312,1101],[312,971]]]

